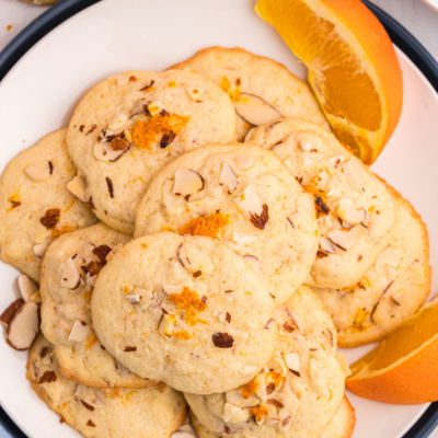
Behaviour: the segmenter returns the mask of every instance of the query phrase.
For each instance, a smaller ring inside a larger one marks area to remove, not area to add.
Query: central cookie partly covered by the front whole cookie
[[[306,280],[319,241],[312,195],[275,153],[242,143],[187,152],[152,178],[137,208],[135,235],[170,229],[226,241],[261,275],[276,303]]]

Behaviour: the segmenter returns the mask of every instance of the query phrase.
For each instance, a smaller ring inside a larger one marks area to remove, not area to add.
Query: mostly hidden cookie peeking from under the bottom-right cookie
[[[204,427],[195,417],[193,412],[189,412],[192,424],[194,425],[198,438],[220,438],[232,437],[232,434],[216,434]],[[356,425],[355,408],[349,403],[348,399],[344,395],[341,407],[337,410],[335,416],[324,429],[321,438],[350,438],[353,436]]]

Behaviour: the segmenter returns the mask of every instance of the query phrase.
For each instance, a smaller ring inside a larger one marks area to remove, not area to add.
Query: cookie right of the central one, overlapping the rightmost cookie
[[[356,285],[392,235],[395,208],[385,184],[331,132],[307,120],[261,126],[245,141],[277,153],[314,196],[321,239],[307,284]]]

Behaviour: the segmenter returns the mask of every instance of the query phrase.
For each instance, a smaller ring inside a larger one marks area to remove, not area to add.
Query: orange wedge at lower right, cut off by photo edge
[[[346,387],[384,403],[438,400],[438,303],[427,304],[351,365]]]

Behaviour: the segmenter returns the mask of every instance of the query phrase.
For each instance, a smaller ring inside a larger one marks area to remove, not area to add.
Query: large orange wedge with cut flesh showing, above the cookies
[[[309,69],[308,80],[337,138],[371,164],[402,111],[402,71],[390,37],[360,0],[260,0]]]

